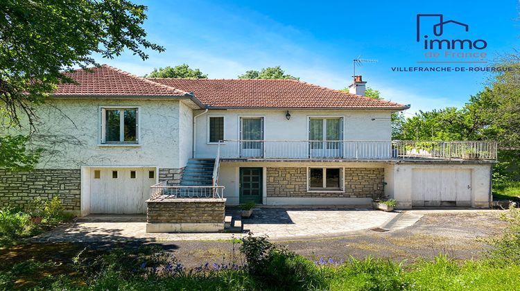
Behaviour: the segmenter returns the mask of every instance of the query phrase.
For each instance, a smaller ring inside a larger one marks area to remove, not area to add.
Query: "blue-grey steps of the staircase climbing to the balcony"
[[[180,186],[211,186],[215,159],[189,159]]]

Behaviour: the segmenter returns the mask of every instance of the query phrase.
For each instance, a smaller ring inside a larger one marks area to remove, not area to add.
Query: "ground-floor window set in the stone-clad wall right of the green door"
[[[343,190],[342,168],[309,168],[310,191]]]

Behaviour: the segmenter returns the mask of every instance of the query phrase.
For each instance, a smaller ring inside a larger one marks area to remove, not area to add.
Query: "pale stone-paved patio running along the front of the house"
[[[232,210],[230,211],[232,214]],[[76,218],[40,236],[36,241],[175,241],[227,240],[245,236],[268,235],[272,240],[338,237],[383,227],[398,212],[369,209],[255,209],[252,218],[242,220],[244,233],[146,233],[144,215],[89,215]]]

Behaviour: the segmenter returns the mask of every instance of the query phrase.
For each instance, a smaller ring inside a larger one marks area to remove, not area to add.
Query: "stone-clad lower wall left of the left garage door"
[[[65,210],[79,211],[80,170],[48,169],[33,172],[0,170],[0,207],[24,206],[34,197],[60,197]]]

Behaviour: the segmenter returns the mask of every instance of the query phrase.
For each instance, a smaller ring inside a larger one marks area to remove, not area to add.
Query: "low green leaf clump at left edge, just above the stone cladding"
[[[10,171],[33,170],[42,149],[30,150],[26,143],[29,136],[0,136],[0,169]]]

